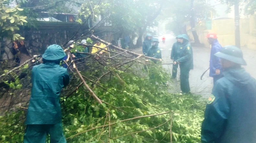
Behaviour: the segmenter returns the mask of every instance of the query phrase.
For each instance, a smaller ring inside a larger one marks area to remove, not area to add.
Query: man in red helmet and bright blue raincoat
[[[219,52],[222,46],[219,44],[218,37],[215,33],[207,34],[206,38],[208,39],[208,43],[211,44],[211,55],[210,55],[210,77],[213,77],[213,83],[222,78],[222,67],[220,63],[220,58],[214,56],[215,53]]]

